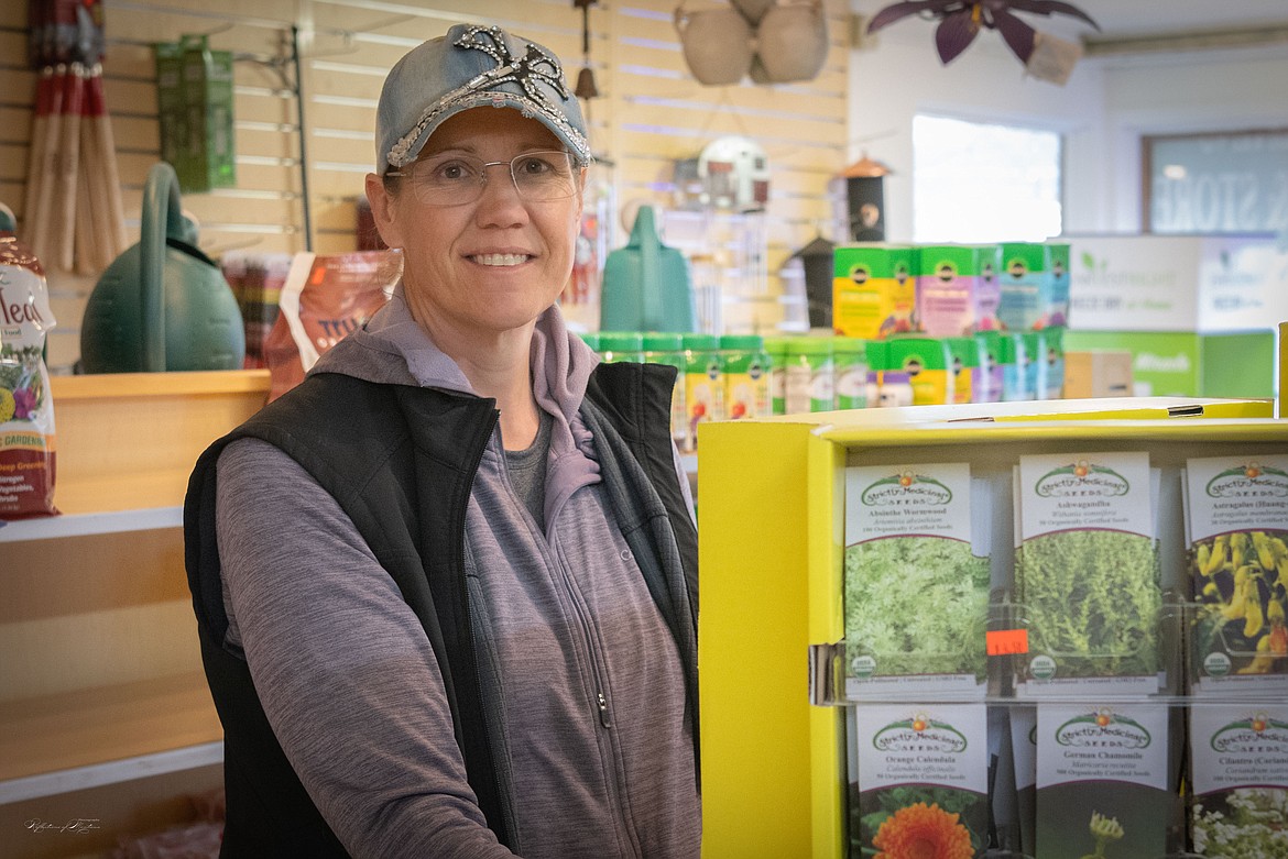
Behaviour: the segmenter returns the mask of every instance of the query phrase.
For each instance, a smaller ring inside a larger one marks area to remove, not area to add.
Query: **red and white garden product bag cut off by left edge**
[[[54,401],[45,337],[54,327],[45,273],[0,211],[0,518],[52,516]]]

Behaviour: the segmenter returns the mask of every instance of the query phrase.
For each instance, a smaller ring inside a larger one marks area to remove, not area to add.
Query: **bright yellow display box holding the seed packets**
[[[811,703],[809,660],[811,646],[845,637],[846,468],[954,462],[1009,475],[1023,455],[1094,449],[1145,451],[1176,473],[1191,457],[1288,449],[1288,424],[1267,419],[1273,404],[1261,400],[1003,406],[993,417],[936,406],[703,428],[705,856],[846,855],[846,707]]]

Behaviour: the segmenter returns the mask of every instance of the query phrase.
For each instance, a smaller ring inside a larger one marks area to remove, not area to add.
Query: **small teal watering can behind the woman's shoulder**
[[[653,207],[641,206],[626,247],[604,261],[599,328],[692,332],[697,319],[689,264],[658,240]]]

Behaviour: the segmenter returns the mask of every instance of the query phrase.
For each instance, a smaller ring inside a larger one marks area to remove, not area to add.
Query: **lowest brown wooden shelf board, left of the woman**
[[[126,761],[89,777],[98,783],[106,774],[139,778],[160,772],[148,756],[222,741],[201,673],[0,702],[0,804],[26,799],[21,791],[76,778],[58,777],[66,770]],[[194,765],[211,763],[210,755],[209,748],[197,752]],[[52,781],[15,783],[36,775]]]

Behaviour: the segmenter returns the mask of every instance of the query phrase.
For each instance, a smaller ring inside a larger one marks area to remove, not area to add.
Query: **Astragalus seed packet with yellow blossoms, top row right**
[[[1288,696],[1288,455],[1186,462],[1191,691]]]

